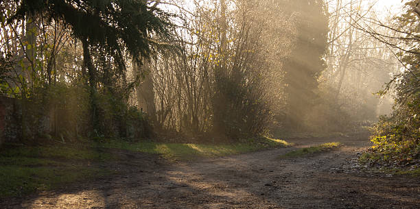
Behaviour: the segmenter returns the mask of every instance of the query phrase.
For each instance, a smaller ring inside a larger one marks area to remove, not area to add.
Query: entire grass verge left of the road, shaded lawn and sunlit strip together
[[[82,145],[56,144],[23,146],[6,144],[0,148],[0,198],[21,196],[36,190],[58,188],[71,182],[91,180],[113,171],[95,167],[96,162],[119,160],[107,149],[156,153],[167,160],[193,160],[198,157],[227,156],[289,144],[274,138],[255,138],[231,145],[154,143],[103,139],[86,140]]]

